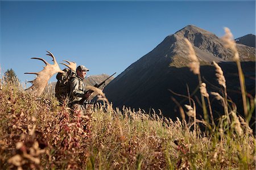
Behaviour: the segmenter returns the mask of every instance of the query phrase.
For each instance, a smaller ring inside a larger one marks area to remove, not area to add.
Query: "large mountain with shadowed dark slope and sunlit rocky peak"
[[[211,65],[212,61],[216,61],[224,68],[227,82],[230,80],[234,83],[228,84],[228,92],[233,94],[235,100],[240,99],[241,97],[237,97],[240,95],[239,79],[236,64],[232,62],[232,52],[225,49],[224,42],[213,33],[195,25],[187,25],[173,35],[167,36],[156,48],[132,63],[106,86],[104,92],[114,107],[122,108],[125,105],[145,111],[160,109],[166,117],[179,117],[177,103],[184,105],[188,104],[188,101],[184,97],[172,94],[170,90],[188,96],[188,87],[192,93],[198,85],[197,76],[187,67],[188,46],[183,40],[184,37],[192,43],[199,57],[201,76],[208,84],[209,90],[220,91],[216,89],[219,86],[215,69]],[[241,61],[247,61],[242,64],[243,69],[249,73],[248,76],[246,74],[246,82],[250,82],[250,88],[246,90],[253,95],[255,94],[255,48],[237,44],[237,49]],[[196,96],[200,98],[198,92],[192,94],[192,97]],[[174,97],[175,101],[171,97]],[[216,100],[214,102],[217,103]]]

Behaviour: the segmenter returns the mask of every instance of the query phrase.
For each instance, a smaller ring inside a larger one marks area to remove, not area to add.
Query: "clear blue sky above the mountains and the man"
[[[49,50],[88,75],[117,76],[188,24],[219,37],[224,27],[234,38],[255,35],[255,1],[1,1],[1,72],[32,80],[24,73],[44,63],[30,58],[51,63]]]

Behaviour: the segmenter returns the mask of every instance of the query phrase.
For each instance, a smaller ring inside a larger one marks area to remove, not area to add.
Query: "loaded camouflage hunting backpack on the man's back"
[[[76,73],[71,69],[64,69],[64,73],[58,73],[56,75],[57,83],[55,86],[55,97],[64,103],[64,100],[69,97],[70,94],[70,80],[73,75]]]

